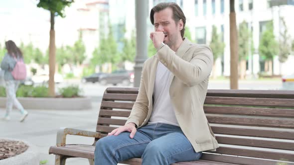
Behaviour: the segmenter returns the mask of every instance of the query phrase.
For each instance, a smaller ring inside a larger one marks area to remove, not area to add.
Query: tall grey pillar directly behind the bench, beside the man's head
[[[136,0],[136,58],[134,87],[140,86],[143,63],[147,59],[148,0]]]

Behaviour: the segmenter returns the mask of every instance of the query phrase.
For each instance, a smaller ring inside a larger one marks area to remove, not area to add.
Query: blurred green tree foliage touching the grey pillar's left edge
[[[124,48],[122,51],[121,58],[123,61],[135,61],[136,57],[136,32],[135,30],[132,31],[131,38],[123,39]]]

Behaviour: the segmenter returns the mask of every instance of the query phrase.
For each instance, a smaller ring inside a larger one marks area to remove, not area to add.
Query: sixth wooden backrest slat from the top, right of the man
[[[248,147],[260,147],[280,150],[293,150],[294,143],[291,142],[277,142],[260,139],[245,139],[236,137],[222,137],[216,136],[216,140],[219,144],[248,146]]]

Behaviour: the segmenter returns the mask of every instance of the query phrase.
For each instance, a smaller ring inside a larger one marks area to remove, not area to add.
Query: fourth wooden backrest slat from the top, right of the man
[[[245,117],[206,116],[209,123],[258,127],[294,128],[294,120],[258,119]]]

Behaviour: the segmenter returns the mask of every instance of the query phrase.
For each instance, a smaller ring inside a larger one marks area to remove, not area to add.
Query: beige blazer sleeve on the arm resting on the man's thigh
[[[136,99],[136,102],[134,103],[134,106],[132,108],[131,114],[126,122],[128,123],[135,123],[138,127],[140,127],[144,120],[147,117],[148,114],[148,97],[147,97],[147,91],[144,83],[144,66],[141,74],[141,82],[139,87],[139,93]]]

